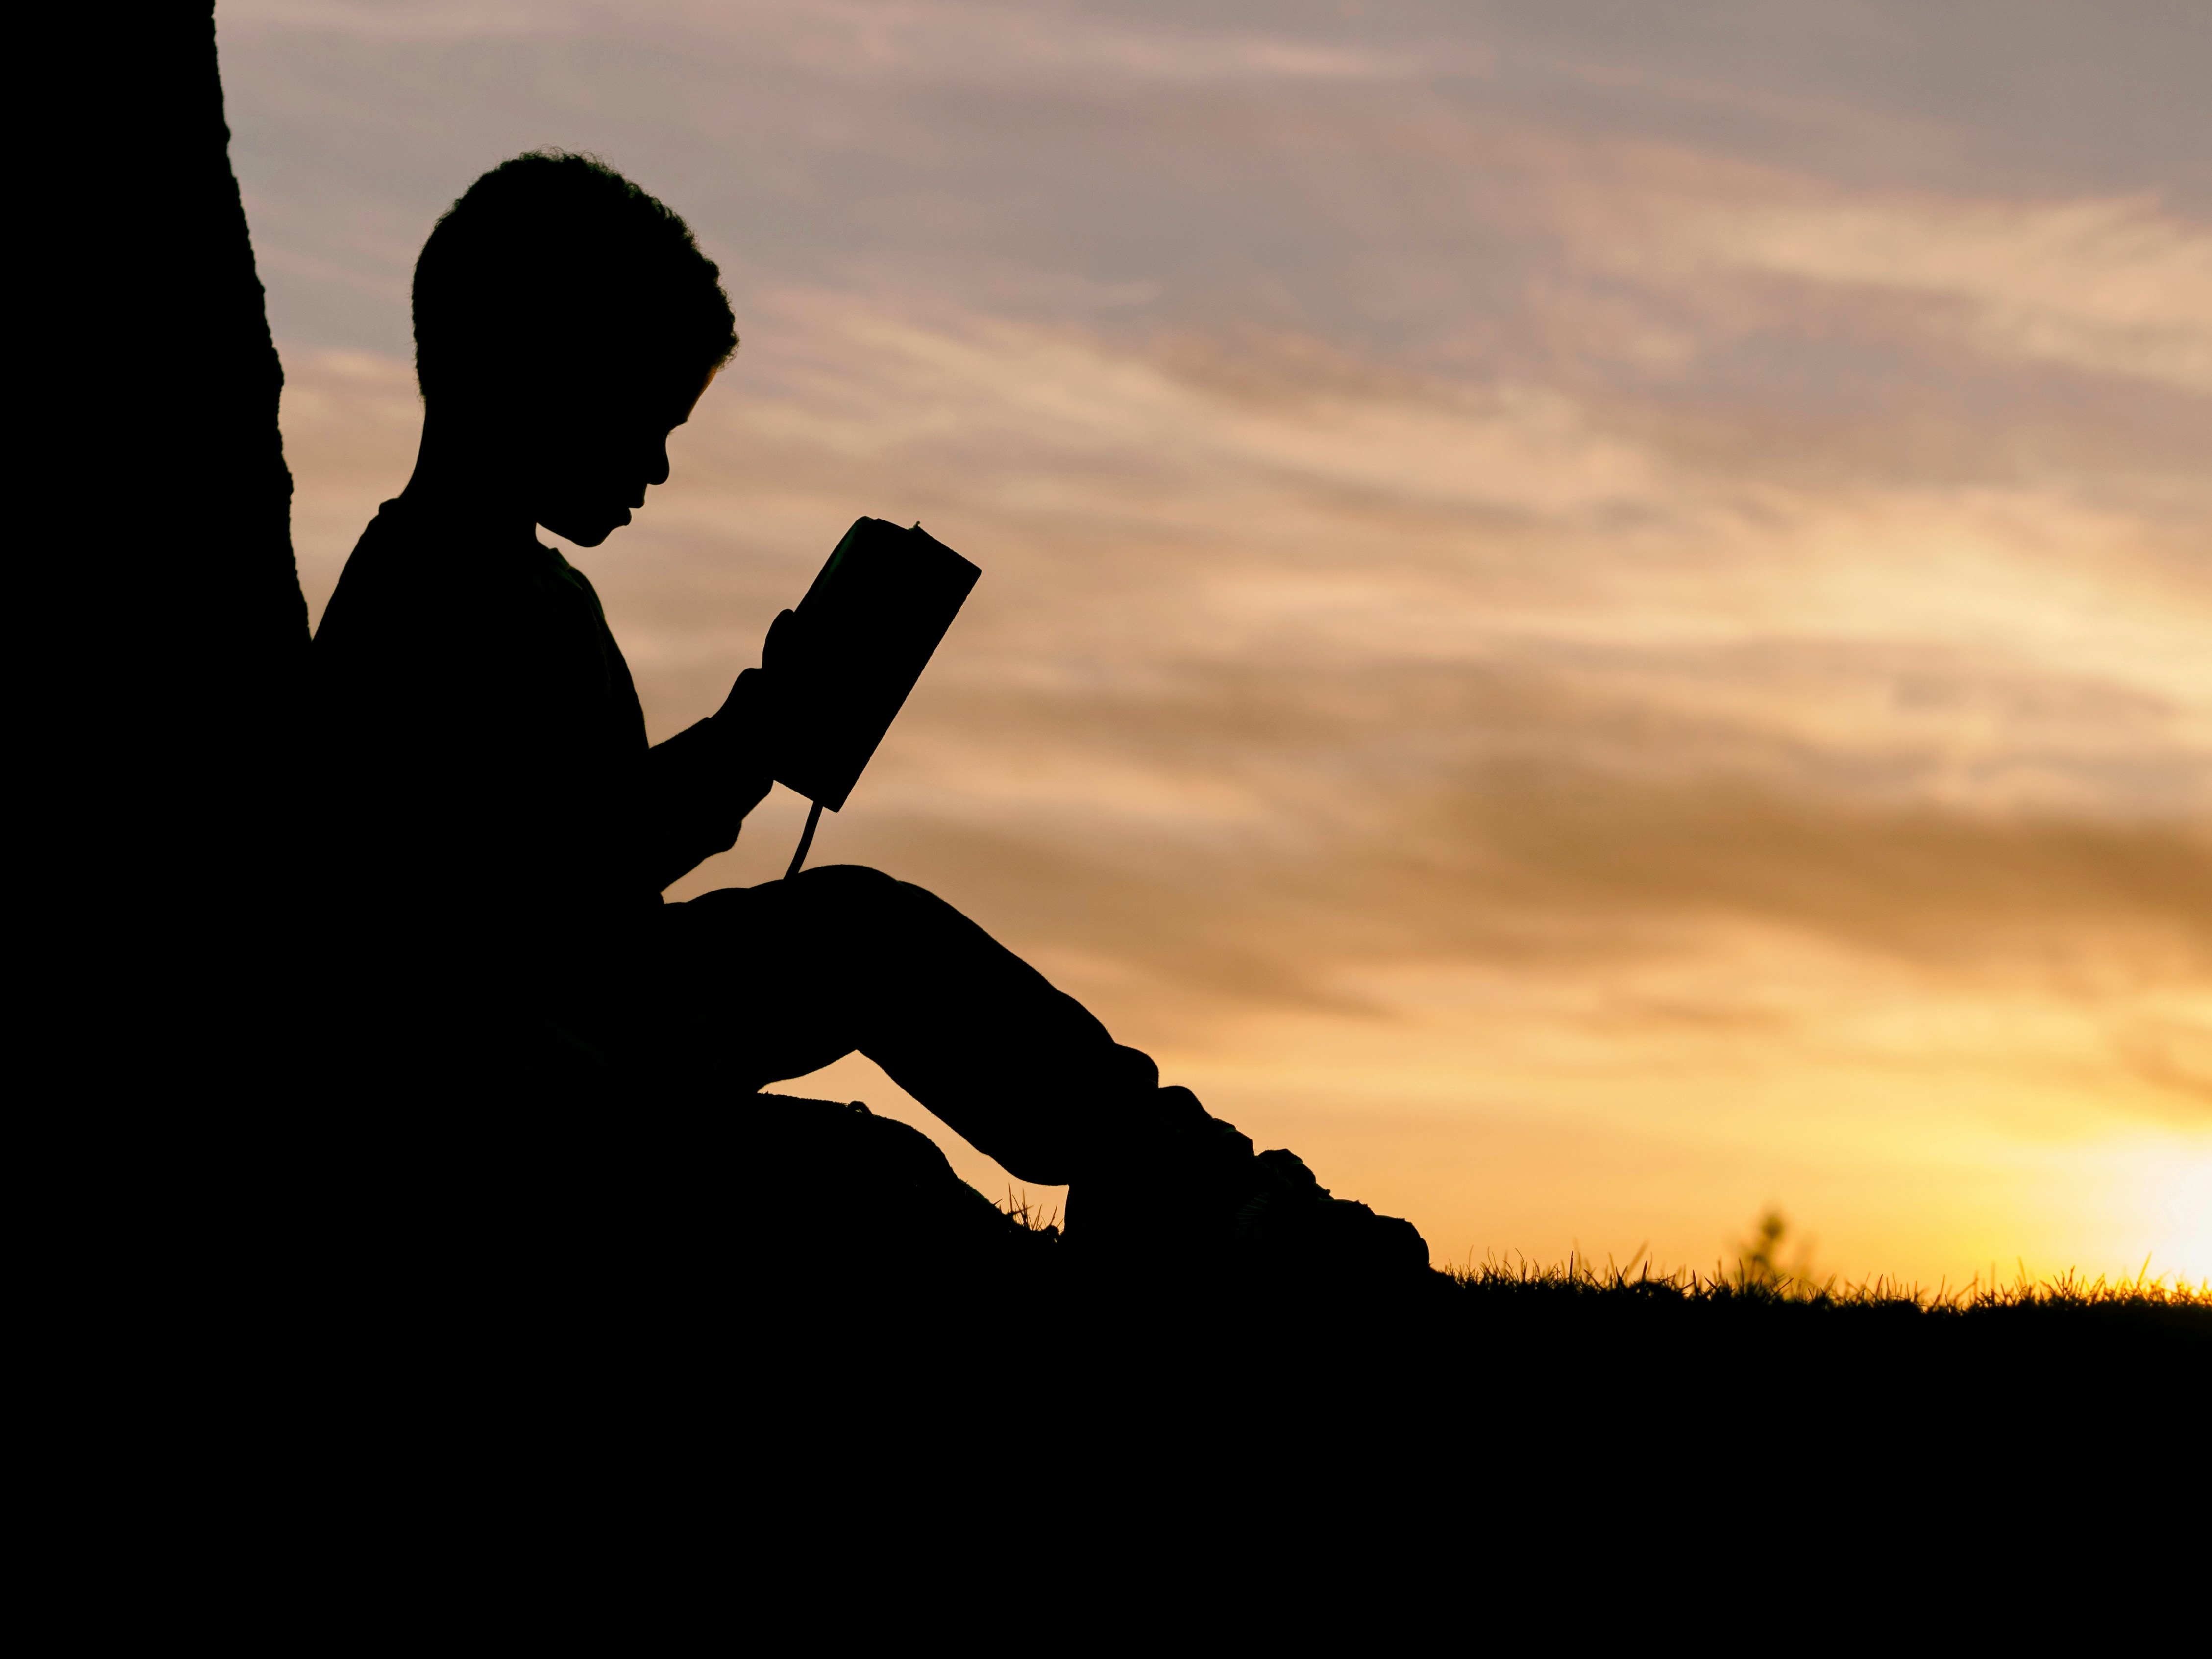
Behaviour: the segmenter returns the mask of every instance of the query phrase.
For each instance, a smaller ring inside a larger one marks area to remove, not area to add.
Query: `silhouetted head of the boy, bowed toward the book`
[[[668,480],[668,434],[737,349],[690,228],[588,155],[469,186],[414,279],[416,378],[482,489],[597,546]]]

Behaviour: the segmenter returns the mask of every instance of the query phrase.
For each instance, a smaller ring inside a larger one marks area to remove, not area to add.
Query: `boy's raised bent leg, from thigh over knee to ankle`
[[[681,1042],[745,1088],[858,1048],[971,1146],[1053,1183],[1206,1121],[1075,998],[942,898],[874,869],[728,887],[659,922]]]

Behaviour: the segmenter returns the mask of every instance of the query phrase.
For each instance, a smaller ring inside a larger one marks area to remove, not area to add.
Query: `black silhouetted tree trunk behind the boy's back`
[[[27,938],[66,1095],[285,1071],[307,613],[210,4],[69,9],[18,155]],[[29,626],[27,626],[29,624]]]

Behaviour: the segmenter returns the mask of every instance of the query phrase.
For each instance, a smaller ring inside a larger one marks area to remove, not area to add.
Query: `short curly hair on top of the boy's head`
[[[414,274],[422,396],[551,365],[706,374],[737,349],[721,268],[690,226],[595,155],[533,150],[467,188]]]

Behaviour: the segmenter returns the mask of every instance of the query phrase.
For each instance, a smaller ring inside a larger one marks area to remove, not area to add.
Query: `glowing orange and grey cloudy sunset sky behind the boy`
[[[945,894],[1438,1261],[1710,1270],[1774,1203],[1851,1279],[2212,1276],[2212,9],[217,33],[316,617],[414,458],[425,234],[593,150],[743,334],[566,549],[655,739],[858,513],[984,571],[814,863]],[[787,1088],[1006,1188],[867,1062]]]

